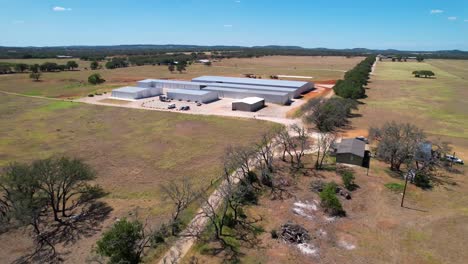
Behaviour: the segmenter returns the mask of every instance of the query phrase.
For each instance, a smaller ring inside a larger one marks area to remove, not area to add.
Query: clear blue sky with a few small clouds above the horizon
[[[0,0],[1,46],[468,50],[468,0]]]

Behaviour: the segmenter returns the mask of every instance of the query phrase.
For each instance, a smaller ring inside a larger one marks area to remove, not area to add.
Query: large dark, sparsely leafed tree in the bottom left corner
[[[90,182],[95,172],[67,157],[12,163],[0,176],[0,232],[32,227],[36,249],[19,262],[57,261],[56,244],[70,243],[96,232],[110,212],[97,199],[105,195]]]

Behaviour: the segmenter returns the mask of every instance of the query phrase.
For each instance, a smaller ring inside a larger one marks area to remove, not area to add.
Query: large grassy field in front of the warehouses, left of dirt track
[[[161,184],[183,176],[207,186],[220,173],[228,145],[249,144],[274,125],[259,120],[181,115],[0,94],[0,166],[51,155],[82,158],[115,218],[138,214],[152,224],[170,214]],[[207,151],[209,150],[209,151]],[[99,233],[72,245],[65,259],[83,263]],[[14,241],[14,242],[13,242]],[[26,232],[0,235],[1,262],[31,250]]]

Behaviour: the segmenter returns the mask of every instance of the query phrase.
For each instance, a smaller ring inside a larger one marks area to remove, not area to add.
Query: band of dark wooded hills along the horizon
[[[159,55],[167,52],[238,52],[245,57],[265,55],[302,55],[302,56],[362,56],[368,54],[383,55],[424,55],[427,58],[468,59],[468,52],[461,50],[440,51],[402,51],[378,50],[366,48],[328,49],[303,48],[300,46],[200,46],[178,44],[135,44],[135,45],[108,45],[108,46],[54,46],[54,47],[3,47],[0,46],[0,58],[53,58],[62,56],[113,56],[113,55]]]

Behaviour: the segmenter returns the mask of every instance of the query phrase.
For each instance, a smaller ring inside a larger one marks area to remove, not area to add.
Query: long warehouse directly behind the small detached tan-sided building
[[[265,101],[277,104],[288,104],[290,102],[289,94],[285,92],[270,92],[259,90],[233,89],[225,87],[207,86],[203,91],[213,91],[218,93],[218,97],[227,97],[233,99],[242,99],[245,97],[261,97]]]

